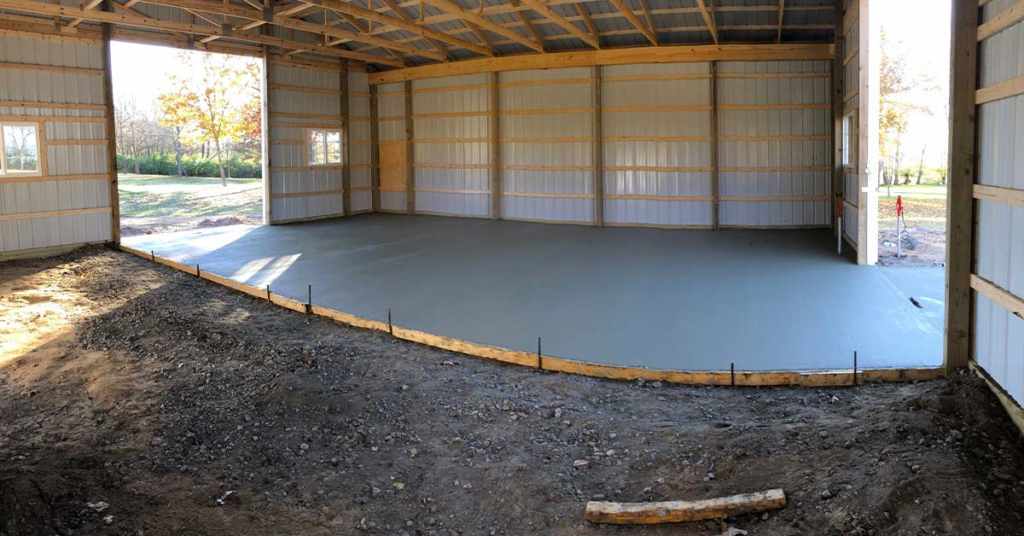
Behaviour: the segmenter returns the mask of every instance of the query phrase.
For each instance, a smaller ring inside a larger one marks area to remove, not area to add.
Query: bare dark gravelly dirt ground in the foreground
[[[969,374],[624,383],[294,314],[104,249],[0,263],[0,535],[1021,534],[1024,450]],[[725,523],[587,500],[782,488]],[[734,533],[735,534],[735,533]]]

